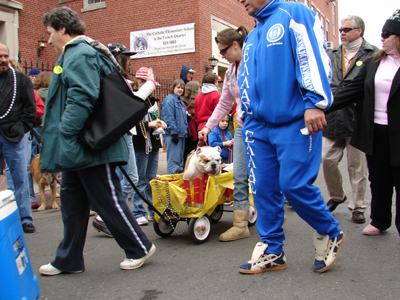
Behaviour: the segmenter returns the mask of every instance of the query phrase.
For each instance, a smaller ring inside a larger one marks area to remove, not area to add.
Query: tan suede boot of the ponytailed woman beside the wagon
[[[233,211],[233,227],[219,236],[221,242],[229,242],[250,237],[249,211],[235,209]]]

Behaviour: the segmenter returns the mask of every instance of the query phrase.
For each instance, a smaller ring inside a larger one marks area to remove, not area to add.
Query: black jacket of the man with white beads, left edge
[[[31,79],[15,71],[17,94],[14,105],[6,117],[0,119],[0,134],[12,143],[19,143],[32,126],[36,116],[36,101]],[[14,94],[13,72],[9,68],[0,92],[0,116],[10,107]]]

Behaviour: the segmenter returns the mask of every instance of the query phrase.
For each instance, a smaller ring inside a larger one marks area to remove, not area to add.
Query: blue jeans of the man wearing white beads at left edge
[[[26,152],[24,140],[11,143],[0,134],[0,149],[4,160],[10,167],[11,177],[15,186],[15,200],[17,201],[21,223],[32,222],[31,203],[29,201],[28,177],[26,175]]]

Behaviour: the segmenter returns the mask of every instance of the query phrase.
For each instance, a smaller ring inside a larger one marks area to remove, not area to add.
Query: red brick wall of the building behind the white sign
[[[195,23],[195,53],[131,60],[132,70],[141,66],[152,66],[157,77],[164,79],[172,79],[174,76],[178,78],[181,66],[186,64],[197,71],[194,80],[201,81],[214,43],[211,39],[211,15],[236,26],[243,24],[249,30],[254,27],[253,18],[247,15],[243,6],[236,0],[106,0],[106,8],[84,13],[81,13],[82,0],[64,4],[58,4],[57,0],[19,0],[19,2],[23,4],[19,19],[22,62],[57,61],[58,55],[50,46],[37,57],[37,41],[42,37],[48,38],[46,28],[42,24],[43,14],[62,5],[78,12],[87,25],[86,34],[91,38],[104,44],[119,42],[128,48],[131,31]],[[332,3],[327,3],[326,0],[310,0],[309,6],[311,3],[331,19]],[[337,44],[336,42],[335,46]]]

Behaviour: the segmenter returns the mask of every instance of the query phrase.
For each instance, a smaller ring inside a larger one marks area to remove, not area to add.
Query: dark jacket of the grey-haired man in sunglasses
[[[344,87],[349,84],[357,76],[363,62],[378,50],[377,47],[364,40],[343,78],[342,47],[340,45],[329,53],[329,58],[332,62],[331,89],[333,94],[335,94],[339,85]],[[323,136],[327,138],[351,137],[355,125],[354,109],[355,104],[351,104],[341,110],[328,114],[326,116],[328,125],[324,128]]]

